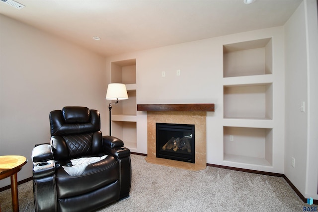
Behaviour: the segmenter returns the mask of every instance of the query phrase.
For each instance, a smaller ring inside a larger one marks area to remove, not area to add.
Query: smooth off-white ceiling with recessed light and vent
[[[283,25],[302,0],[16,0],[0,13],[104,56]],[[23,36],[23,35],[21,35]],[[100,41],[92,39],[101,38]]]

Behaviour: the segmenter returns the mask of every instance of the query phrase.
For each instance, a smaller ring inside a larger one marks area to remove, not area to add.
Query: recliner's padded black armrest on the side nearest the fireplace
[[[124,146],[124,142],[116,137],[103,136],[104,150],[116,158],[130,156],[130,150]]]

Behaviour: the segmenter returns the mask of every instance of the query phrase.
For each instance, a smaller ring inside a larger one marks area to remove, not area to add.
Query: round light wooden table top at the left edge
[[[18,171],[26,164],[27,159],[20,155],[0,156],[0,179],[8,177]]]

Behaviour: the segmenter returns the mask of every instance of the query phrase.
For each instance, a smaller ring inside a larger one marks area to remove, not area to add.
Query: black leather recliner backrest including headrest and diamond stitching
[[[100,116],[86,107],[50,112],[51,144],[56,159],[98,154],[102,149]]]

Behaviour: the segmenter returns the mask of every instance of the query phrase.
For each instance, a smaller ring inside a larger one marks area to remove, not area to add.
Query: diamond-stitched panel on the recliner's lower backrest
[[[89,154],[93,133],[63,136],[70,156]]]

